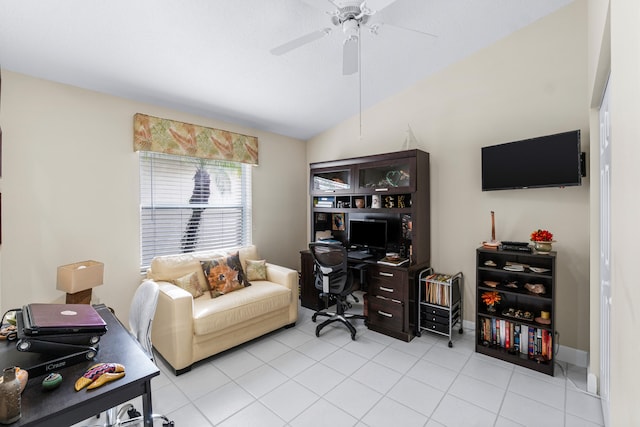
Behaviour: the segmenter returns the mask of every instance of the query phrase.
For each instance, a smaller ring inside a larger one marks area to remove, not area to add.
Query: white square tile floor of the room
[[[316,338],[313,311],[299,314],[294,328],[179,377],[158,358],[155,412],[178,427],[603,425],[583,368],[559,362],[550,377],[477,354],[471,330],[456,333],[453,348],[429,333],[405,343],[362,321],[356,341],[340,326]]]

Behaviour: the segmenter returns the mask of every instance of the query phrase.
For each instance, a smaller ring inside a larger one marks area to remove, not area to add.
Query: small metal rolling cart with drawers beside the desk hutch
[[[462,273],[434,273],[429,268],[420,273],[418,281],[418,336],[422,331],[444,335],[453,347],[452,330],[460,325],[462,333]]]

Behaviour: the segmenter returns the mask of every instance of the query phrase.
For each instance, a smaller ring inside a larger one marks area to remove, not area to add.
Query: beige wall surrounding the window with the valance
[[[253,241],[270,262],[298,268],[306,243],[304,142],[3,70],[3,312],[62,302],[57,266],[96,259],[105,263],[105,284],[94,295],[126,321],[140,280],[136,112],[257,136]]]

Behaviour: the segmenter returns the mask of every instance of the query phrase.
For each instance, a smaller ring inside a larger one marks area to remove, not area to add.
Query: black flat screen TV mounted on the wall
[[[580,131],[482,147],[482,191],[582,184]]]

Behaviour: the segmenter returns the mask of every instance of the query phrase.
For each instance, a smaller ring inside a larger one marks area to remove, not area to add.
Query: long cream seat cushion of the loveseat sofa
[[[288,307],[291,290],[267,281],[255,281],[240,289],[211,301],[208,296],[193,302],[193,329],[195,335],[206,335],[237,325],[274,310]]]

